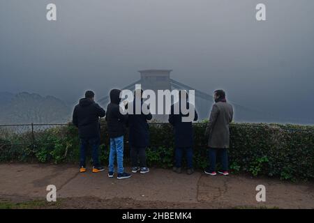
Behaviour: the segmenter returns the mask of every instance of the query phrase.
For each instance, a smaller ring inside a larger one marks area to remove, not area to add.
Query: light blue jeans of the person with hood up
[[[117,155],[118,174],[124,173],[124,136],[110,138],[109,171],[114,172],[114,160]]]

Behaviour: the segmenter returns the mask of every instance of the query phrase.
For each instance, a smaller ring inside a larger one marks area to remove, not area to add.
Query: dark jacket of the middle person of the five
[[[135,100],[133,102],[133,109],[133,114],[128,115],[128,137],[130,147],[147,147],[149,146],[149,125],[147,120],[151,120],[153,116],[150,113],[135,114]]]

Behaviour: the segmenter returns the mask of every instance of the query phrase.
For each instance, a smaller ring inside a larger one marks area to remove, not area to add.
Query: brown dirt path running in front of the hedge
[[[45,201],[50,184],[57,187],[57,204]],[[266,202],[256,201],[257,185],[266,187]],[[75,165],[0,164],[0,203],[33,200],[45,202],[31,208],[314,208],[314,183],[168,169],[117,180],[107,171],[78,174]]]

